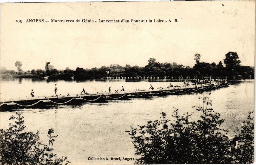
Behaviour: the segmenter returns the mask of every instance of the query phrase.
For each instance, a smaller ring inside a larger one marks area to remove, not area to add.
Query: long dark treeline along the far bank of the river
[[[65,70],[57,70],[50,62],[46,63],[45,70],[33,69],[31,71],[22,71],[22,63],[17,61],[18,71],[6,70],[1,68],[2,78],[41,78],[49,76],[52,79],[70,79],[71,77],[76,80],[83,79],[100,79],[101,77],[136,77],[136,76],[200,76],[200,75],[212,75],[213,77],[224,77],[224,76],[237,76],[241,75],[244,78],[252,76],[254,78],[254,67],[251,66],[241,66],[240,60],[238,60],[238,55],[236,52],[228,52],[226,58],[224,59],[225,67],[220,61],[216,63],[207,63],[200,61],[201,55],[195,54],[196,64],[193,67],[184,66],[174,63],[159,63],[156,59],[150,58],[148,60],[148,65],[145,67],[130,66],[126,65],[122,67],[118,64],[112,64],[109,67],[102,66],[100,68],[94,67],[91,69],[84,69],[82,67],[77,67],[76,70],[71,70],[68,67]]]

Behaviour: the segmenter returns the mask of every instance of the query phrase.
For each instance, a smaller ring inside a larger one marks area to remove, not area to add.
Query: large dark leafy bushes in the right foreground
[[[190,120],[190,114],[179,116],[170,122],[162,113],[160,120],[148,121],[147,125],[133,128],[129,135],[140,155],[136,164],[202,164],[202,163],[252,163],[253,117],[244,121],[241,133],[230,140],[226,130],[220,129],[224,122],[213,111],[209,98],[203,98],[203,106],[195,107],[201,112],[200,120]]]

